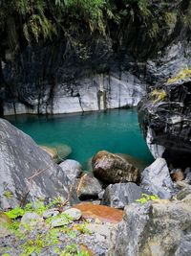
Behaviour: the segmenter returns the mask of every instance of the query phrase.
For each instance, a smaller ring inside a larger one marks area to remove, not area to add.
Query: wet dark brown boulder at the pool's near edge
[[[138,182],[138,169],[115,153],[99,151],[92,164],[94,175],[103,183]]]

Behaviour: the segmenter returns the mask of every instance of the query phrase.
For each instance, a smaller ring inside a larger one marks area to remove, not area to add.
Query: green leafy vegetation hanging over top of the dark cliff
[[[22,30],[29,43],[53,36],[67,38],[73,47],[83,48],[82,56],[87,57],[86,45],[77,40],[81,33],[107,37],[114,25],[120,30],[134,23],[155,38],[175,25],[175,10],[166,0],[159,3],[159,8],[149,0],[1,0],[0,34],[13,36],[16,30]],[[190,15],[189,11],[183,13],[183,19],[189,21]]]

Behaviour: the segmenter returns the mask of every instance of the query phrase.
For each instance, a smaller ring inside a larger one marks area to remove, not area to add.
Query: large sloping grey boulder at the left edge
[[[69,179],[30,136],[0,119],[0,207],[68,196]]]

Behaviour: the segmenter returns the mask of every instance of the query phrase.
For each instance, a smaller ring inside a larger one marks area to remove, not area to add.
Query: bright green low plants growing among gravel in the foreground
[[[22,241],[20,244],[20,249],[22,253],[21,256],[30,256],[32,253],[35,255],[40,255],[42,250],[47,250],[51,246],[55,255],[60,256],[90,256],[89,252],[74,243],[70,242],[70,239],[74,241],[76,236],[80,233],[90,235],[91,232],[87,228],[87,221],[84,223],[76,223],[70,225],[71,218],[66,214],[58,214],[57,216],[50,216],[46,221],[43,222],[42,228],[38,228],[38,222],[32,221],[30,223],[20,222],[20,218],[26,213],[35,212],[38,215],[42,216],[43,213],[54,207],[60,207],[60,198],[55,198],[51,203],[45,205],[43,201],[37,200],[32,203],[26,204],[25,207],[15,207],[14,209],[5,212],[5,214],[11,218],[11,222],[7,223],[7,228],[11,229],[17,239]],[[62,219],[64,223],[60,227],[53,227],[52,222]],[[63,250],[59,246],[59,236],[60,234],[65,234],[67,239],[67,244]],[[4,255],[10,255],[10,247],[4,248]]]

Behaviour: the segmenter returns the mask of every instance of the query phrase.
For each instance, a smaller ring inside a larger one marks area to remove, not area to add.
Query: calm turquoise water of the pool
[[[11,123],[32,136],[40,145],[67,144],[68,158],[81,164],[97,151],[127,153],[150,164],[151,153],[138,127],[136,109],[115,109],[72,115],[19,115]]]

